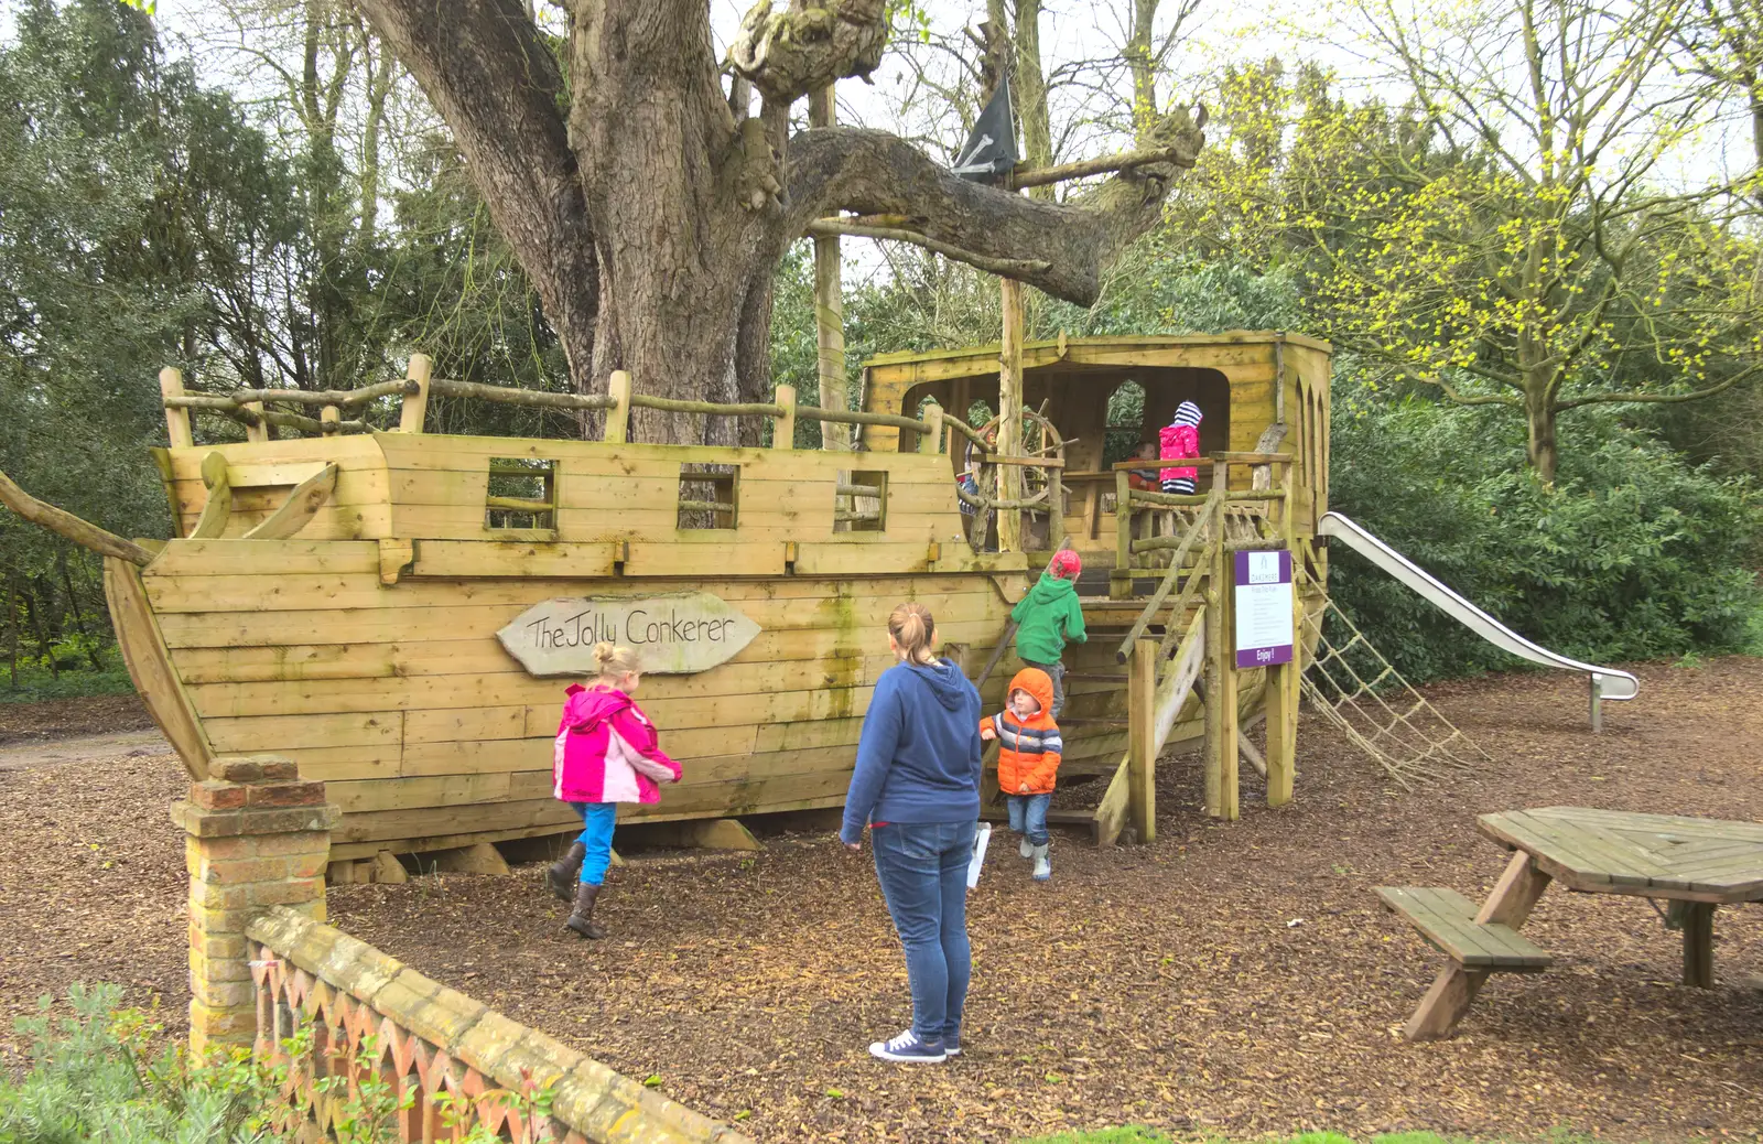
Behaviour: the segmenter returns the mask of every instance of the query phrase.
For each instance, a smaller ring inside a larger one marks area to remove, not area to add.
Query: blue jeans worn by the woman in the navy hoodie
[[[961,1036],[973,954],[968,947],[968,864],[973,821],[874,827],[876,880],[906,948],[911,1031],[934,1044]]]

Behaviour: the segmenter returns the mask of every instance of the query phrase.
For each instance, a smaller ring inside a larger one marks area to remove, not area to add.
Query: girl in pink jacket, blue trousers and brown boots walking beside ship
[[[552,751],[552,793],[582,816],[582,836],[552,862],[545,883],[575,910],[564,925],[580,938],[605,938],[594,920],[594,899],[612,862],[612,827],[621,802],[659,802],[658,783],[679,783],[679,763],[663,754],[656,724],[631,700],[642,672],[636,652],[612,643],[594,645],[599,679],[571,684]],[[578,874],[580,871],[580,874]]]

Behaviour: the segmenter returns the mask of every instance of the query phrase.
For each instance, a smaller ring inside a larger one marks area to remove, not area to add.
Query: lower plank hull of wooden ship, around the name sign
[[[568,679],[532,679],[495,631],[552,596],[709,591],[762,633],[640,700],[686,783],[631,818],[836,806],[901,599],[989,650],[1008,615],[986,575],[864,580],[379,582],[376,543],[171,541],[143,576],[217,753],[286,753],[344,809],[337,857],[568,827],[550,797]]]

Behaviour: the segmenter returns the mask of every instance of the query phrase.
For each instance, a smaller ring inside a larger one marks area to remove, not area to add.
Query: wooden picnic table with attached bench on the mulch
[[[1580,894],[1673,903],[1684,984],[1700,989],[1714,985],[1715,908],[1763,901],[1763,823],[1551,806],[1481,814],[1476,825],[1514,851],[1481,908],[1454,890],[1377,890],[1451,955],[1409,1019],[1409,1040],[1449,1036],[1490,973],[1548,968],[1550,955],[1518,931],[1551,881]]]

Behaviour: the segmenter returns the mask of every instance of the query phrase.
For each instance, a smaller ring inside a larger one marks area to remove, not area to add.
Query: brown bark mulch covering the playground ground
[[[1370,888],[1481,897],[1504,853],[1483,811],[1580,804],[1763,820],[1763,661],[1641,670],[1641,698],[1585,728],[1581,684],[1507,675],[1430,691],[1495,758],[1407,793],[1306,717],[1298,802],[1197,814],[1195,761],[1160,769],[1151,846],[1054,843],[1035,885],[1000,839],[971,897],[966,1056],[889,1066],[910,1019],[867,853],[827,834],[758,855],[638,858],[603,899],[612,938],[557,929],[538,867],[335,887],[331,918],[418,969],[762,1140],[1008,1140],[1148,1123],[1183,1137],[1433,1128],[1613,1140],[1756,1139],[1763,910],[1715,920],[1714,991],[1677,984],[1678,934],[1645,901],[1544,895],[1555,954],[1497,977],[1449,1042],[1400,1026],[1440,955]],[[0,1007],[67,982],[130,999],[183,989],[176,763],[0,770]],[[92,846],[97,846],[92,850]],[[109,867],[104,862],[111,862]],[[12,1045],[16,1051],[16,1045]]]

